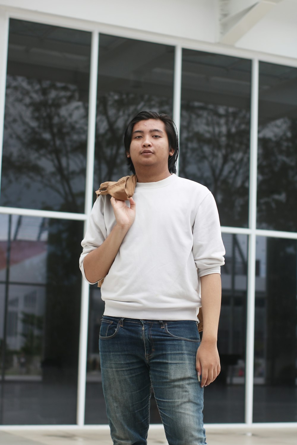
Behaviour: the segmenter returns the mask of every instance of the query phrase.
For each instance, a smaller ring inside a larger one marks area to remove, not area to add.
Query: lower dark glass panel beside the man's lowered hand
[[[221,372],[204,392],[205,423],[244,422],[247,256],[246,235],[223,234],[222,307],[218,333]]]

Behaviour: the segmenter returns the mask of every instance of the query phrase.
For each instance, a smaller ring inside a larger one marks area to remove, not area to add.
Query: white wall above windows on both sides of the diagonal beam
[[[54,15],[86,20],[206,42],[216,44],[217,47],[217,43],[220,46],[222,1],[150,0],[145,3],[139,0],[0,0],[0,14],[3,8],[14,11],[16,16],[18,11],[32,11],[49,17]],[[226,47],[223,44],[221,46]],[[275,4],[234,46],[297,59],[297,0],[282,0]]]

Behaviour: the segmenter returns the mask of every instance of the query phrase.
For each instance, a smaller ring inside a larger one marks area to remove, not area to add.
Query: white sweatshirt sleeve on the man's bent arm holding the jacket
[[[87,231],[85,232],[85,238],[81,241],[82,253],[79,259],[79,267],[81,274],[85,281],[90,283],[85,278],[84,259],[88,253],[101,246],[103,241],[107,238],[107,230],[104,220],[104,198],[99,196],[92,208],[90,219],[87,225]],[[95,283],[90,283],[95,284]]]

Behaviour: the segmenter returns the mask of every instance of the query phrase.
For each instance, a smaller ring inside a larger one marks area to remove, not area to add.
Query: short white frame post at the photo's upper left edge
[[[4,130],[4,108],[5,87],[8,53],[8,27],[9,17],[7,12],[0,11],[0,183],[2,170],[3,130]]]

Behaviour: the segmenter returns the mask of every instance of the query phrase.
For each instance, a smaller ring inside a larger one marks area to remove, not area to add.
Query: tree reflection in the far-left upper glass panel
[[[30,191],[21,194],[22,206],[83,211],[86,116],[76,85],[8,75],[1,188],[5,205],[12,205],[9,186],[18,182],[18,190]]]

